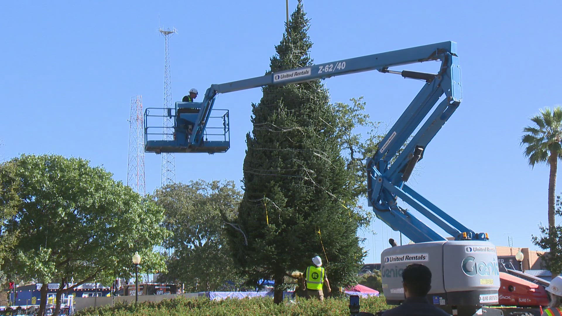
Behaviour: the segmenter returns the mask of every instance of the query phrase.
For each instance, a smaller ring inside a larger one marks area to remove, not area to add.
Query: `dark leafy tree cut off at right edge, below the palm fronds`
[[[562,215],[562,200],[556,196],[555,215]],[[562,226],[555,225],[551,229],[540,225],[541,236],[533,236],[533,243],[541,249],[549,250],[541,255],[545,268],[552,272],[553,276],[562,273]]]

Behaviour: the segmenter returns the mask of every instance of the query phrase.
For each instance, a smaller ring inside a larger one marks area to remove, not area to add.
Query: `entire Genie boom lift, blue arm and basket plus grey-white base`
[[[436,73],[389,69],[426,61],[440,62]],[[368,160],[369,205],[379,219],[415,242],[414,245],[389,248],[381,255],[383,288],[387,301],[396,304],[404,300],[401,270],[407,264],[419,262],[428,265],[433,272],[432,291],[429,295],[434,304],[441,305],[452,314],[479,313],[481,305],[498,303],[500,279],[495,246],[488,241],[487,233],[476,233],[460,224],[406,184],[416,163],[423,158],[428,143],[462,100],[455,42],[400,49],[212,84],[205,92],[202,102],[176,102],[175,109],[165,109],[164,115],[175,121],[174,127],[168,132],[164,127],[151,127],[147,122],[152,116],[162,116],[151,115],[150,111],[161,113],[162,110],[147,109],[145,151],[157,154],[227,151],[230,147],[228,111],[220,110],[219,115],[211,115],[216,111],[213,106],[219,93],[265,85],[301,83],[369,70],[424,81],[422,89],[379,143],[378,151]],[[219,123],[219,127],[209,125],[212,119]],[[418,132],[413,135],[418,127]],[[152,133],[153,128],[160,128],[163,132]],[[152,139],[155,136],[164,138],[164,133],[173,133],[173,140]],[[220,139],[209,140],[213,136]],[[441,236],[416,219],[410,211],[398,206],[398,198],[452,238]],[[495,312],[489,310],[487,315],[491,316]]]

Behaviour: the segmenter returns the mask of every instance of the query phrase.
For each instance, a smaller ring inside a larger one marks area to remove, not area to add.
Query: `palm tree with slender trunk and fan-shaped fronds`
[[[554,109],[545,109],[530,118],[534,127],[525,127],[523,132],[527,133],[521,137],[521,145],[525,147],[525,157],[529,159],[529,165],[534,167],[537,162],[545,162],[550,165],[549,177],[549,233],[554,231],[554,204],[556,189],[556,169],[558,159],[562,159],[562,107],[555,106]]]

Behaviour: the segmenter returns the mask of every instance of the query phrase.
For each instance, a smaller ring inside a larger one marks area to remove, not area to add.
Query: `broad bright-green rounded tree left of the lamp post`
[[[57,155],[22,155],[2,164],[13,168],[0,174],[2,208],[16,207],[3,229],[20,232],[2,270],[20,281],[37,281],[41,288],[39,315],[44,313],[47,283],[65,291],[85,282],[111,283],[130,277],[131,258],[142,255],[144,270],[164,268],[164,258],[152,252],[167,235],[160,227],[164,211],[151,199],[111,178],[88,161]],[[74,278],[76,283],[69,285]]]

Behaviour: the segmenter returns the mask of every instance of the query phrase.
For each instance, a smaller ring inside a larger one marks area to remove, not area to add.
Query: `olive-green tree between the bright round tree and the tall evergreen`
[[[186,291],[216,291],[225,281],[238,281],[221,218],[225,215],[229,223],[235,218],[242,193],[234,182],[170,184],[155,197],[165,209],[164,225],[173,233],[164,243],[174,252],[161,281],[182,282]]]

